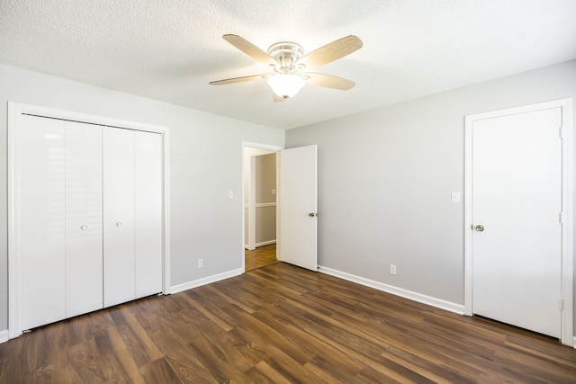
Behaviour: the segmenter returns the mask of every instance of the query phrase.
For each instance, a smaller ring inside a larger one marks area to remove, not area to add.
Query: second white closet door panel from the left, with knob
[[[102,127],[66,122],[66,316],[103,307]]]

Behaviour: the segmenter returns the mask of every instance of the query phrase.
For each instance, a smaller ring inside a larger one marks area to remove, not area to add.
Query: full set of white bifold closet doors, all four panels
[[[162,290],[162,135],[22,115],[14,234],[23,330]]]

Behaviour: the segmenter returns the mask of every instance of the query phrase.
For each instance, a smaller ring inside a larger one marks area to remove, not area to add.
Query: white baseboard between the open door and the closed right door
[[[464,315],[464,305],[461,304],[455,304],[453,302],[446,301],[443,299],[433,298],[427,295],[423,295],[421,293],[412,292],[411,290],[404,290],[402,288],[394,287],[393,285],[388,285],[384,284],[383,282],[365,279],[364,277],[359,277],[347,272],[340,272],[328,267],[323,267],[321,265],[318,267],[318,272],[326,273],[331,276],[335,276],[347,281],[353,281],[358,284],[365,285],[366,287],[374,288],[376,290],[383,290],[384,292],[392,293],[392,295],[418,301],[419,303],[427,304],[432,307],[446,309],[450,312],[454,312],[459,315]]]

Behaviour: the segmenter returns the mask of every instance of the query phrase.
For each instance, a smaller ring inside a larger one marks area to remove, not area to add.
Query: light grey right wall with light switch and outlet
[[[464,305],[464,116],[565,97],[576,60],[288,130],[319,146],[320,265]]]

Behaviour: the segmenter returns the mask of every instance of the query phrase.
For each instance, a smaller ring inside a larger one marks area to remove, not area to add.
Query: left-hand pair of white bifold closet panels
[[[102,130],[23,116],[14,192],[23,329],[102,308]]]

